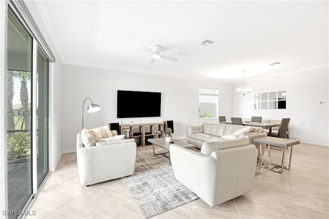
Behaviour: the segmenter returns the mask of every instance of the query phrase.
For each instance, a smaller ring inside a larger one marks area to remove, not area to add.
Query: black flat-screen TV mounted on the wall
[[[118,90],[117,117],[156,117],[161,112],[161,93]]]

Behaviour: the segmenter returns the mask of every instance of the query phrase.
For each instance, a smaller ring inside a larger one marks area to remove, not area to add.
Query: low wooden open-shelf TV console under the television
[[[125,138],[134,138],[137,146],[150,145],[149,138],[157,138],[163,136],[163,123],[143,123],[143,124],[126,124],[120,126],[121,134]],[[160,131],[160,133],[155,133]]]

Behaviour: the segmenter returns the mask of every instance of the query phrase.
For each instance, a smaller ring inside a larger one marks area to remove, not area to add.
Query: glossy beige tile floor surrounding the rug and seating
[[[283,174],[261,169],[258,161],[262,174],[251,192],[214,207],[199,199],[153,218],[328,218],[328,157],[328,147],[297,145]],[[27,218],[144,218],[121,179],[81,187],[75,153],[63,154],[30,211],[35,216]]]

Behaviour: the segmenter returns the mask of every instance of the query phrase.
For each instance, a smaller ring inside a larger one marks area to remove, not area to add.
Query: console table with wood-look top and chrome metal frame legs
[[[279,173],[282,173],[283,169],[290,170],[291,157],[293,157],[293,146],[300,144],[300,142],[298,140],[286,139],[286,138],[280,138],[280,137],[269,137],[269,136],[255,138],[253,140],[253,142],[261,144],[259,148],[260,148],[260,152],[261,152],[262,168],[271,170],[271,171],[275,171],[275,172],[279,172]],[[268,145],[268,161],[269,161],[268,167],[264,166],[262,144]],[[271,145],[280,147],[283,149],[281,165],[271,163],[271,152],[270,152]],[[285,152],[285,149],[288,149],[288,147],[291,147],[290,157],[289,157],[289,166],[285,167],[284,166],[284,156],[285,156],[284,152]],[[279,168],[281,168],[281,171],[277,170]]]

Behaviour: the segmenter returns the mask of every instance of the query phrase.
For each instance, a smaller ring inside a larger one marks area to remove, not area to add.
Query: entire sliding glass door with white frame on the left
[[[20,212],[48,173],[48,58],[8,7],[8,218]]]

